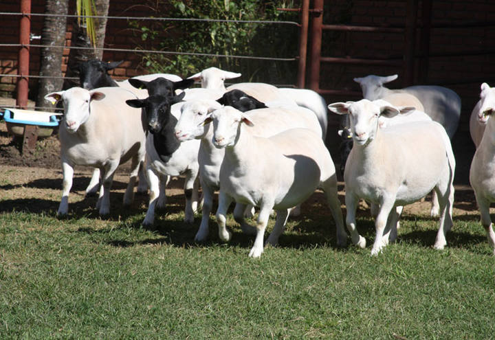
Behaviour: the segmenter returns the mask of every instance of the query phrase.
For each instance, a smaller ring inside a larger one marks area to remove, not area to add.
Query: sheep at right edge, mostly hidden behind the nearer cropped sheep
[[[487,121],[490,115],[485,115],[487,107],[494,107],[495,103],[495,88],[489,87],[486,82],[481,84],[480,100],[474,106],[470,117],[470,135],[471,139],[478,148],[483,138],[483,133],[487,126]]]

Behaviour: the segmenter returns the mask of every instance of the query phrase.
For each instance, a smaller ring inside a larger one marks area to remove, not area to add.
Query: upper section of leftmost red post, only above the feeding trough
[[[19,56],[17,58],[17,102],[16,104],[25,109],[28,106],[29,89],[29,44],[31,32],[31,0],[21,0],[21,21],[19,22]]]

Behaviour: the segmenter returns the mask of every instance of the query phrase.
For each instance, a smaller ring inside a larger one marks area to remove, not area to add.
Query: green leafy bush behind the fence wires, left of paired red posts
[[[189,0],[149,1],[153,16],[188,19],[241,21],[298,21],[294,12],[278,7],[297,7],[294,1]],[[190,76],[216,66],[240,71],[244,80],[294,82],[296,62],[249,60],[233,56],[294,58],[298,53],[298,29],[288,24],[224,23],[214,21],[131,21],[140,36],[140,48],[186,54],[145,54],[143,63],[150,72]],[[187,53],[217,54],[193,56]]]

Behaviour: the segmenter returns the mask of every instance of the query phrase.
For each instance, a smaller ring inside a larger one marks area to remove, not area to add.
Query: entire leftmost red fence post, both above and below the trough
[[[17,99],[16,105],[20,109],[28,106],[29,91],[29,57],[30,57],[30,32],[31,32],[31,0],[21,0],[21,20],[19,22],[19,56],[17,58]],[[38,139],[38,126],[25,125],[21,152],[25,149],[34,150]]]

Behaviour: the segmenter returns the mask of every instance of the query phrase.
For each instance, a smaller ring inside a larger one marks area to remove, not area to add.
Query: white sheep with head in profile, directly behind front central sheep
[[[203,207],[201,225],[195,236],[197,242],[202,242],[208,237],[208,221],[212,209],[212,198],[214,190],[219,188],[219,171],[223,160],[223,150],[219,150],[212,144],[212,128],[204,124],[210,113],[221,108],[221,104],[214,100],[198,100],[186,102],[181,109],[181,117],[175,126],[175,136],[180,141],[189,139],[201,139],[199,147],[199,179],[203,189]],[[271,108],[248,111],[250,117],[256,120],[256,126],[249,127],[252,133],[264,137],[275,135],[289,128],[309,128],[316,135],[321,135],[318,120],[311,111],[298,106],[290,108]],[[252,227],[244,223],[244,205],[236,205],[234,218],[241,224],[243,231],[247,234],[252,232]],[[230,240],[230,232],[225,225],[219,229],[221,240]]]

